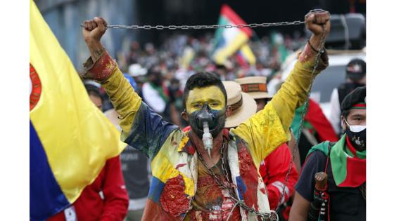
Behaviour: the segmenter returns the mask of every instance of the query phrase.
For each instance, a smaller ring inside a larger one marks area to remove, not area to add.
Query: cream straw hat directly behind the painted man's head
[[[241,91],[241,86],[235,81],[222,81],[227,92],[227,105],[231,106],[231,115],[227,117],[225,128],[239,126],[255,114],[258,106],[250,95]]]

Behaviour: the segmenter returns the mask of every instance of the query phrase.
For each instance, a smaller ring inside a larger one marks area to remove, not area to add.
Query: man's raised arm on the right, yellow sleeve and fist
[[[320,40],[324,35],[323,24],[326,28],[325,35],[329,33],[329,18],[330,14],[326,11],[321,13],[310,12],[305,15],[305,25],[313,34],[298,57],[290,76],[264,109],[233,130],[236,135],[248,142],[253,155],[256,156],[255,163],[257,166],[260,161],[265,159],[265,156],[268,156],[279,145],[291,139],[289,128],[293,121],[294,112],[307,99],[314,59],[317,55],[314,50],[319,48]],[[326,53],[323,53],[314,74],[321,72],[327,66],[328,57]]]

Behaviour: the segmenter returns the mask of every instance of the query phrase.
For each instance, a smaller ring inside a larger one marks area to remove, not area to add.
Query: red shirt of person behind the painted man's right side
[[[269,154],[260,164],[259,172],[267,186],[269,207],[272,210],[277,208],[279,199],[281,198],[290,161],[291,152],[288,149],[288,145],[284,143]],[[288,201],[288,198],[293,195],[297,179],[298,173],[293,163],[286,182],[284,201]]]

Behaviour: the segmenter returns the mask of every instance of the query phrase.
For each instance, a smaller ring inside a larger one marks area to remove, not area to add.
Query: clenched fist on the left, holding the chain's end
[[[93,20],[85,20],[84,27],[82,27],[82,34],[85,42],[90,43],[100,42],[101,36],[106,33],[107,22],[101,17],[94,17]]]

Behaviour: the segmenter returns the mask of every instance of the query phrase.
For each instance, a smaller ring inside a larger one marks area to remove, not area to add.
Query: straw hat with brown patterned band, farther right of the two
[[[266,76],[247,76],[235,79],[241,85],[242,91],[248,93],[253,99],[272,98],[267,91]]]

